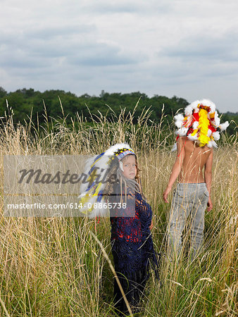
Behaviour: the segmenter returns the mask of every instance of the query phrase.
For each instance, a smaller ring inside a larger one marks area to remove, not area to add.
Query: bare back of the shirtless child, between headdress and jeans
[[[199,147],[186,137],[182,137],[182,147],[184,147],[184,160],[179,182],[204,182],[203,167],[211,154],[211,149],[207,145]]]

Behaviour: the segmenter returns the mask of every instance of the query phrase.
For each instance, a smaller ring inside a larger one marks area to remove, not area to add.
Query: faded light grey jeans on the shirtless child
[[[208,189],[205,182],[177,184],[170,208],[168,222],[168,256],[170,261],[179,256],[182,232],[188,216],[191,216],[192,259],[196,256],[203,241],[204,213],[208,203]]]

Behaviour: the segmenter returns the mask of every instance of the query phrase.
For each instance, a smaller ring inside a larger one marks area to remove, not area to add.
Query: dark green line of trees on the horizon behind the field
[[[137,104],[138,103],[138,104]],[[63,114],[66,118],[68,125],[72,123],[71,118],[75,118],[76,113],[83,116],[90,124],[92,115],[119,116],[121,109],[125,108],[125,115],[130,111],[132,112],[135,105],[137,108],[134,111],[134,120],[136,121],[144,108],[149,108],[150,120],[159,122],[161,120],[162,112],[165,119],[164,125],[171,125],[173,116],[177,111],[189,104],[186,99],[179,97],[168,98],[155,94],[154,97],[148,97],[141,92],[131,92],[129,94],[121,93],[108,93],[101,91],[101,94],[90,96],[89,94],[82,94],[77,97],[71,92],[63,90],[46,90],[45,92],[35,91],[34,89],[17,89],[15,92],[6,92],[0,87],[0,116],[4,120],[4,116],[8,116],[10,108],[14,115],[14,123],[29,122],[29,117],[32,118],[32,123],[41,125],[44,123],[46,116],[49,118],[62,118]],[[218,111],[219,113],[219,111]],[[221,113],[219,113],[220,115]],[[94,120],[96,120],[96,116]],[[234,134],[237,126],[238,113],[223,113],[222,121],[228,120],[230,126],[227,128],[227,134]],[[134,122],[136,123],[136,122]]]

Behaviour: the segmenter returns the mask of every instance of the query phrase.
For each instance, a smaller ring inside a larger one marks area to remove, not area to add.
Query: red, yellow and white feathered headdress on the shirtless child
[[[187,135],[188,139],[198,141],[199,147],[218,147],[215,141],[220,139],[217,128],[224,131],[229,123],[220,124],[218,112],[215,110],[215,104],[208,99],[196,100],[184,109],[185,116],[181,113],[175,116],[175,125],[178,130],[177,138]],[[176,147],[173,148],[174,150]]]

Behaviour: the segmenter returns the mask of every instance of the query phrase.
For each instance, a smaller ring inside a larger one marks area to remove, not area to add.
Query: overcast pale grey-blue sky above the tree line
[[[0,0],[0,86],[238,111],[237,0]]]

